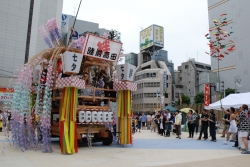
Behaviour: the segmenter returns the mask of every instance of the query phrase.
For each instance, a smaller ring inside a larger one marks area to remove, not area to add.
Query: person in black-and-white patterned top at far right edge
[[[250,151],[248,150],[248,133],[250,130],[249,125],[249,119],[248,119],[248,106],[246,104],[243,104],[241,107],[241,112],[237,116],[237,119],[240,120],[240,126],[239,126],[239,140],[242,140],[245,150],[242,150],[241,154],[250,154]]]

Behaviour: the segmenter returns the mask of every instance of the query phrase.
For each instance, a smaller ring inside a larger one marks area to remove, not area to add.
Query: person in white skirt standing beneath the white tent
[[[222,110],[224,110],[224,109],[222,108]],[[230,127],[229,127],[229,130],[227,132],[226,141],[223,142],[224,144],[228,143],[228,140],[229,140],[229,137],[230,137],[231,134],[237,133],[237,127],[236,127],[234,112],[235,112],[235,109],[233,107],[230,107],[230,110],[229,110],[229,113],[228,113],[230,115],[230,119],[229,120],[224,119],[224,118],[222,119],[223,121],[226,121],[226,122],[230,123]]]

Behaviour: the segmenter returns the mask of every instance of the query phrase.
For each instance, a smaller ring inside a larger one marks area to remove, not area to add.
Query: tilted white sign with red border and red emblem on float
[[[87,34],[83,46],[83,55],[107,61],[117,62],[122,43],[93,34]]]

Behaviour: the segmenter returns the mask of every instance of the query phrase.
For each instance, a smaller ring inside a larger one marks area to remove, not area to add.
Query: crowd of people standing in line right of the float
[[[226,136],[226,141],[223,144],[228,144],[230,136],[232,135],[232,142],[235,142],[233,147],[237,147],[242,154],[250,154],[248,150],[248,140],[250,132],[250,110],[247,105],[242,105],[235,109],[231,107],[228,110],[221,110],[225,113],[222,121],[224,128],[222,138]],[[189,110],[186,114],[187,122],[183,122],[182,113],[176,110],[170,113],[169,110],[162,110],[153,114],[147,115],[142,113],[134,115],[133,132],[141,132],[144,129],[150,129],[151,132],[157,132],[161,136],[170,137],[171,132],[176,134],[176,138],[181,139],[182,124],[187,124],[189,136],[194,138],[194,134],[199,136],[197,140],[207,140],[211,137],[211,142],[216,142],[216,132],[219,128],[215,111],[204,109],[201,114],[197,110]],[[200,130],[199,130],[200,129]],[[209,131],[208,131],[209,130]],[[209,133],[208,133],[209,132]]]

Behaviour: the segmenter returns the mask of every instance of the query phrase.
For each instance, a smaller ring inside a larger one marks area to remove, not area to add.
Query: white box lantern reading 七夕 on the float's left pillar
[[[82,54],[66,51],[62,55],[64,74],[78,74],[82,63]]]

